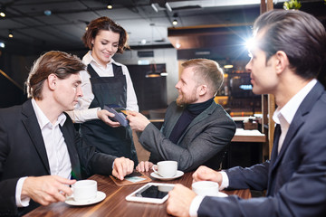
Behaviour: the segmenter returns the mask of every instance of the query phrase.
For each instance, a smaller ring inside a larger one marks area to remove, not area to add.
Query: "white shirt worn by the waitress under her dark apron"
[[[120,64],[119,62],[114,61],[113,59],[107,64],[106,68],[102,67],[95,59],[91,56],[91,51],[87,52],[86,55],[82,58],[82,61],[88,65],[91,63],[92,68],[100,77],[113,77],[113,67],[112,63],[122,67],[122,73],[126,76],[127,80],[127,107],[128,110],[139,111],[139,106],[137,104],[137,97],[133,84],[129,75],[128,68]],[[97,111],[101,108],[89,109],[91,101],[94,99],[94,94],[91,91],[91,76],[88,71],[80,72],[82,78],[82,98],[78,100],[78,104],[73,111],[67,112],[69,116],[75,123],[83,123],[91,119],[99,119],[97,116]]]

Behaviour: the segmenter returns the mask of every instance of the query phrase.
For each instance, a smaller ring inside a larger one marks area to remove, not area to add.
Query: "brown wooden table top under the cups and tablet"
[[[149,173],[147,173],[149,175]],[[117,186],[110,177],[104,175],[92,175],[92,180],[98,182],[98,190],[106,193],[106,198],[101,203],[88,206],[71,206],[66,203],[53,203],[49,206],[41,206],[24,216],[78,216],[78,217],[96,217],[96,216],[168,216],[167,203],[135,203],[127,202],[125,197],[137,190],[143,184],[132,184],[127,186]],[[186,173],[182,177],[172,181],[159,181],[157,183],[184,184],[190,187],[192,184],[192,173]],[[236,191],[224,191],[227,194],[237,194],[248,199],[251,193],[248,189]]]

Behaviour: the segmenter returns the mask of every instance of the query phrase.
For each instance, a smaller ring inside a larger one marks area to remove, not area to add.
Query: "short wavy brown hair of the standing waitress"
[[[82,36],[82,42],[88,47],[90,50],[92,48],[91,40],[95,39],[96,35],[101,30],[111,31],[113,33],[119,33],[120,39],[118,44],[118,51],[119,53],[124,52],[126,48],[129,48],[128,45],[128,33],[120,24],[115,23],[107,16],[102,16],[95,20],[92,20],[90,24],[87,26],[87,31]]]

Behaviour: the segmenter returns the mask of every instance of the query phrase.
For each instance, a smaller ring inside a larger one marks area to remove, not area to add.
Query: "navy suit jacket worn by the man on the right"
[[[271,161],[226,171],[229,188],[267,189],[267,196],[241,200],[205,197],[198,216],[326,216],[326,93],[318,82],[303,99]]]

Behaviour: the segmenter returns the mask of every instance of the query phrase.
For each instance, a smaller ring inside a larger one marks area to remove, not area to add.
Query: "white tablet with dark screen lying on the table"
[[[175,184],[148,183],[126,196],[127,201],[142,203],[164,203],[168,192]]]

